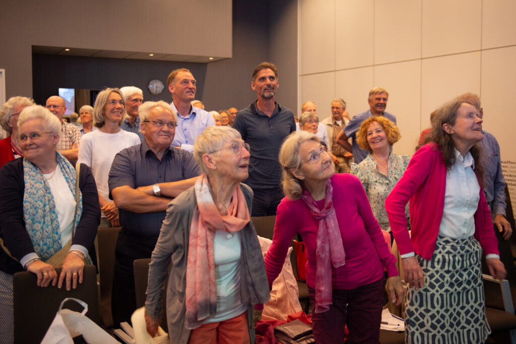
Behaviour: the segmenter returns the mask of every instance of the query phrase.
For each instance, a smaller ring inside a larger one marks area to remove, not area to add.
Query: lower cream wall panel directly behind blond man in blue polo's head
[[[422,129],[421,60],[376,66],[375,86],[389,92],[386,111],[396,116],[401,133],[394,152],[412,155]]]

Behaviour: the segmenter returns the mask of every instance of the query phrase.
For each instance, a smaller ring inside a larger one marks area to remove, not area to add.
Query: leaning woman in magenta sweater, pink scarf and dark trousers
[[[269,286],[283,267],[292,238],[300,233],[307,245],[315,341],[341,344],[347,324],[349,343],[378,343],[384,268],[393,303],[401,302],[402,288],[396,259],[360,180],[334,174],[327,148],[306,131],[285,139],[279,160],[287,197],[278,206],[265,257]]]

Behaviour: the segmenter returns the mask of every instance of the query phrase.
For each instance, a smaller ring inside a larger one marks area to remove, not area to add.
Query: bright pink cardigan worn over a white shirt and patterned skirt
[[[385,200],[385,209],[391,224],[399,253],[415,252],[430,260],[436,250],[436,240],[443,216],[446,191],[446,166],[443,155],[434,143],[419,149],[405,174]],[[410,199],[411,236],[407,230],[405,205]],[[491,212],[480,184],[480,200],[475,217],[475,239],[485,254],[498,254]]]

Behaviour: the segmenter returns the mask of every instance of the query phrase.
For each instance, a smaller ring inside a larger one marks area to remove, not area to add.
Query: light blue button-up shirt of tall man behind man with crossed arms
[[[212,114],[202,110],[202,108],[190,106],[190,113],[183,117],[179,114],[174,102],[170,106],[178,113],[178,126],[175,127],[173,147],[181,147],[189,152],[193,152],[193,143],[197,135],[202,134],[206,127],[215,126]]]

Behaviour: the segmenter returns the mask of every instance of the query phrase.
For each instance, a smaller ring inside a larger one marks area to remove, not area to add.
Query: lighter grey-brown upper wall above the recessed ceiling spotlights
[[[231,0],[1,0],[6,96],[30,96],[32,45],[231,57],[231,6]]]

